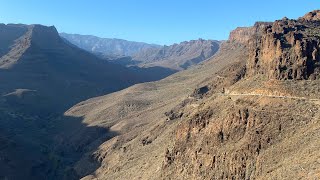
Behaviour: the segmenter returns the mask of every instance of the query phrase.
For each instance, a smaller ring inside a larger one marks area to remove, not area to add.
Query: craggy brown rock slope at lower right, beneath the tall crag
[[[295,89],[293,95],[316,88],[316,93],[305,98],[319,95],[319,81],[296,85],[284,82],[251,79],[228,86],[228,91],[250,94],[257,91],[252,87],[256,84],[261,89],[270,88],[271,93]],[[320,145],[319,136],[314,134],[319,128],[320,111],[313,102],[210,92],[198,101],[199,106],[192,107],[195,102],[191,102],[179,109],[181,117],[171,120],[179,121],[179,125],[173,133],[174,145],[164,152],[162,179],[319,177],[320,166],[313,165],[319,152],[312,147]]]

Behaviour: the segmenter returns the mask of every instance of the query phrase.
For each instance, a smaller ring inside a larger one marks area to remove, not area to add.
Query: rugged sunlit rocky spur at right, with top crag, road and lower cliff
[[[164,152],[162,179],[319,177],[320,166],[312,165],[319,157],[312,147],[320,145],[313,136],[320,126],[318,17],[314,11],[230,34],[248,59],[167,113],[180,123]]]

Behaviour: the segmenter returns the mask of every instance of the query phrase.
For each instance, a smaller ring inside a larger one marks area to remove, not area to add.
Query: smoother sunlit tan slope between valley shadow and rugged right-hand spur
[[[103,143],[93,155],[83,157],[75,167],[77,173],[88,174],[92,171],[88,164],[98,161],[100,169],[88,178],[148,179],[159,176],[166,146],[172,143],[171,134],[177,125],[167,122],[165,113],[187,98],[199,82],[218,76],[219,70],[240,61],[244,55],[243,47],[239,46],[227,43],[215,58],[203,65],[159,82],[134,85],[87,100],[68,110],[68,116],[83,117],[86,124],[121,134]]]

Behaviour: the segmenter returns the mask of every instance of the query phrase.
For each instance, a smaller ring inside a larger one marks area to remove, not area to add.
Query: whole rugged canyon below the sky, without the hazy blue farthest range
[[[320,177],[320,10],[129,53],[161,77],[0,29],[0,179]]]

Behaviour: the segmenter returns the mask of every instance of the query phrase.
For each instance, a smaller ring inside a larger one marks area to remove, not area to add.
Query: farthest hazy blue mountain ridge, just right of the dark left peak
[[[84,50],[98,54],[99,56],[107,59],[131,56],[141,50],[160,47],[160,45],[156,44],[147,44],[122,39],[99,38],[91,35],[60,33],[60,36]]]

